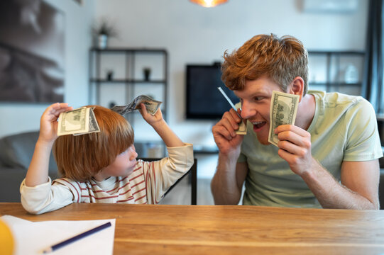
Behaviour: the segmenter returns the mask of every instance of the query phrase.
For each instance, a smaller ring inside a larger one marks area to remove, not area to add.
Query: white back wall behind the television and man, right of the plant
[[[259,33],[294,35],[309,50],[363,50],[368,1],[353,13],[306,13],[302,1],[229,0],[204,8],[187,0],[97,0],[95,15],[120,30],[116,47],[164,47],[170,57],[168,122],[182,140],[212,145],[212,121],[185,120],[185,64],[210,64]],[[136,132],[136,138],[144,134]]]

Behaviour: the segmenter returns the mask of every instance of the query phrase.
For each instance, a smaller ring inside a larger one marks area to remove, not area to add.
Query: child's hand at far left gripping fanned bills
[[[68,103],[53,103],[45,109],[40,118],[39,140],[42,142],[53,142],[57,138],[57,118],[60,113],[71,111],[73,108]]]

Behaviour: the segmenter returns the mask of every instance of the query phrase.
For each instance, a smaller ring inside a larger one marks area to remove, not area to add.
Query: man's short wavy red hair
[[[282,91],[295,79],[304,80],[308,90],[308,52],[300,40],[285,35],[256,35],[231,54],[224,52],[221,79],[231,90],[242,90],[246,80],[267,75]]]

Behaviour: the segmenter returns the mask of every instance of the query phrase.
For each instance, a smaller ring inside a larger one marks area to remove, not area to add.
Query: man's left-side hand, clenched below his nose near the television
[[[223,118],[213,126],[214,142],[216,142],[221,153],[229,154],[234,151],[239,153],[244,135],[237,135],[235,130],[238,129],[238,123],[240,122],[241,118],[238,117],[234,109],[231,109],[229,112],[225,112]]]

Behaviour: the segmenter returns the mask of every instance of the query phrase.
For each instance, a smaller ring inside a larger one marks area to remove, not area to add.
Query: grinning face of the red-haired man
[[[234,91],[241,101],[241,118],[253,124],[258,141],[269,145],[268,134],[270,126],[270,100],[272,91],[282,91],[280,86],[268,77],[246,81],[244,89]],[[284,91],[283,91],[284,92]]]

